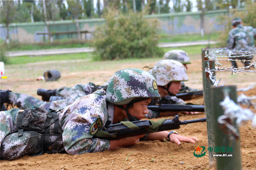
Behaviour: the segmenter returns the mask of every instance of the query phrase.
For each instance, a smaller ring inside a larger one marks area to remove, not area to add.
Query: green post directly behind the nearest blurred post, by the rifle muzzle
[[[208,68],[210,70],[215,69],[215,60],[206,60],[203,62],[203,68]],[[215,76],[215,72],[213,76]],[[207,118],[207,138],[208,138],[208,148],[214,146],[214,131],[213,131],[213,115],[212,115],[212,95],[210,88],[213,86],[213,82],[210,80],[209,73],[203,70],[203,97],[205,105],[205,115]],[[212,153],[209,153],[209,168],[215,167],[215,160]]]

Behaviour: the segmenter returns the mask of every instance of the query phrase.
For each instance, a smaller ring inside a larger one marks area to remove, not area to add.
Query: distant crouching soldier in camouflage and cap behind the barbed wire
[[[232,19],[233,29],[229,32],[229,38],[227,39],[227,48],[234,51],[250,51],[255,50],[254,38],[256,37],[256,28],[250,26],[243,26],[243,22],[240,17]],[[241,54],[234,54],[232,56],[240,56]],[[245,53],[246,55],[246,53]],[[245,57],[230,57],[232,60],[251,60],[253,56]],[[236,61],[231,61],[234,68],[237,68]],[[244,66],[249,66],[250,61],[244,62]]]

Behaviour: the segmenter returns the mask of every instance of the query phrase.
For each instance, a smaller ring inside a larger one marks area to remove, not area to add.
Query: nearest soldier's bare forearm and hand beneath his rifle
[[[110,140],[110,149],[114,150],[121,147],[131,146],[139,142],[140,138],[142,138],[145,135],[138,135],[138,136],[132,136],[127,138],[122,138],[119,140]]]

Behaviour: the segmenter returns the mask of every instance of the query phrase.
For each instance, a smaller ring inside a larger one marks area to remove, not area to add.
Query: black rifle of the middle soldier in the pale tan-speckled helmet
[[[203,105],[187,105],[187,104],[160,104],[148,106],[152,111],[199,111],[204,112]]]

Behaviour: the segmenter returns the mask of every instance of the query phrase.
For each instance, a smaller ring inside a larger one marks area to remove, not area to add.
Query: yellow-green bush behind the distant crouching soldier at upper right
[[[219,42],[221,46],[226,46],[226,40],[229,37],[229,31],[232,29],[231,20],[234,17],[240,17],[243,21],[244,26],[252,26],[256,28],[256,3],[251,1],[246,1],[245,10],[243,11],[235,11],[234,13],[230,13],[229,16],[221,16],[220,24],[224,25],[224,31],[219,34]]]

